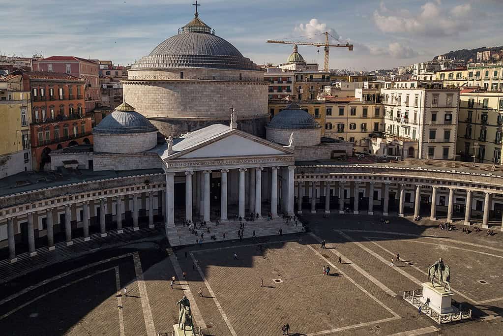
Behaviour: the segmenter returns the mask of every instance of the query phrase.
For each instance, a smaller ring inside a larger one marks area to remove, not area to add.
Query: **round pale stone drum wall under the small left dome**
[[[104,153],[139,153],[157,145],[157,132],[129,134],[94,134],[94,151]]]

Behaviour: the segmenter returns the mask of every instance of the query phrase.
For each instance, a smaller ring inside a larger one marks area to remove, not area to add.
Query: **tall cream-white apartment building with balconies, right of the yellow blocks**
[[[456,155],[459,90],[439,82],[395,82],[382,90],[384,135],[373,152],[401,157],[449,159]],[[394,141],[398,139],[399,141]]]

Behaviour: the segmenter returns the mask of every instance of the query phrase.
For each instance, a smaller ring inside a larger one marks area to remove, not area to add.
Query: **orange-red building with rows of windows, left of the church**
[[[91,116],[84,110],[85,86],[85,80],[66,73],[23,72],[23,87],[32,96],[33,170],[44,170],[54,149],[93,143]]]

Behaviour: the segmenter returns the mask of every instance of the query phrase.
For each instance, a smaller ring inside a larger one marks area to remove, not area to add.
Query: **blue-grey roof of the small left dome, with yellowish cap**
[[[98,134],[127,134],[155,132],[157,129],[147,118],[139,114],[134,108],[122,103],[115,111],[106,116],[95,128]]]

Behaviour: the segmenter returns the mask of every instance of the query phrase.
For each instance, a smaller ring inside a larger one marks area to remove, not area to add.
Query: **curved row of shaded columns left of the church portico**
[[[145,209],[148,215],[148,227],[153,228],[154,227],[154,191],[149,191],[145,193],[146,197],[148,197],[148,209]],[[132,209],[131,211],[131,216],[132,216],[132,222],[133,222],[133,231],[139,230],[138,226],[138,216],[139,216],[139,207],[138,207],[138,197],[140,197],[141,193],[133,193],[129,194],[128,197],[132,198]],[[95,200],[95,204],[98,202],[99,203],[99,209],[100,209],[100,216],[99,216],[99,225],[100,225],[100,236],[101,237],[106,237],[107,236],[107,220],[106,216],[111,215],[113,213],[107,213],[107,204],[108,204],[108,199],[111,198],[113,202],[117,205],[117,210],[116,210],[116,230],[117,233],[123,233],[123,214],[125,214],[125,207],[124,207],[124,201],[125,201],[125,195],[121,196],[112,196],[112,197],[101,197],[99,199]],[[82,207],[82,215],[81,215],[81,222],[82,222],[82,232],[83,232],[83,240],[84,241],[89,241],[90,238],[90,233],[89,233],[89,227],[90,227],[90,202],[89,201],[82,201],[78,203],[69,203],[65,204],[63,206],[64,208],[64,222],[60,223],[62,227],[64,227],[64,233],[65,233],[65,241],[66,245],[69,246],[73,244],[73,239],[75,238],[72,235],[72,227],[71,223],[72,220],[77,220],[77,218],[72,217],[72,206],[79,205]],[[57,210],[56,207],[49,207],[46,210],[45,218],[46,218],[46,236],[47,236],[47,246],[49,250],[54,250],[54,218],[57,215],[57,212],[61,210]],[[37,212],[38,216],[41,216],[39,212]],[[23,216],[24,217],[24,216]],[[15,239],[15,223],[14,223],[14,218],[15,217],[9,217],[7,218],[7,240],[8,240],[8,247],[9,247],[9,259],[11,261],[16,261],[16,239]],[[18,217],[20,220],[22,217]],[[26,225],[27,225],[27,238],[28,238],[28,252],[31,257],[37,255],[37,251],[35,248],[35,225],[34,225],[34,213],[27,213],[26,214]]]

